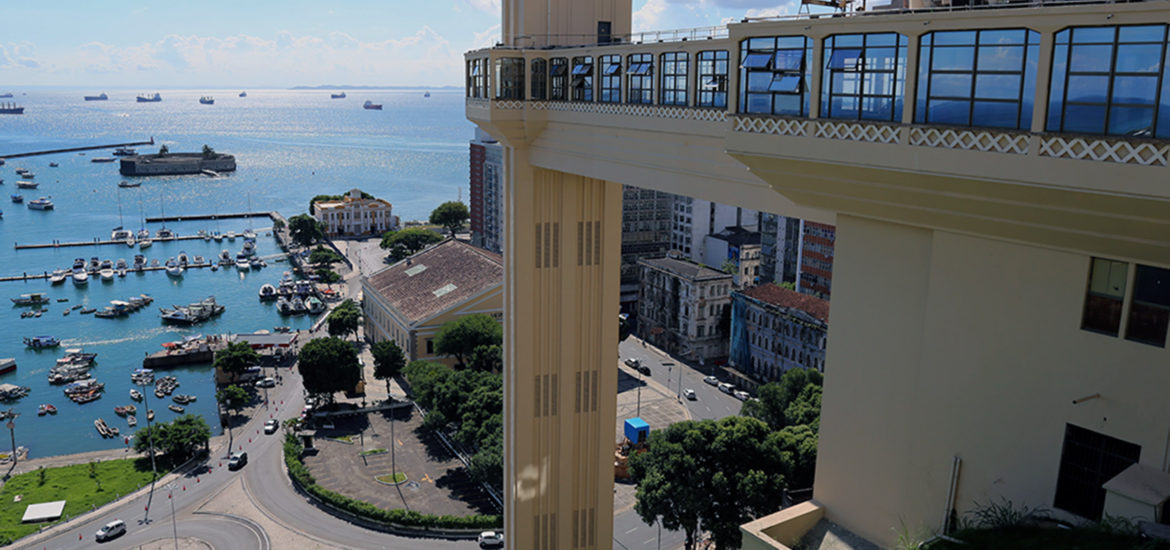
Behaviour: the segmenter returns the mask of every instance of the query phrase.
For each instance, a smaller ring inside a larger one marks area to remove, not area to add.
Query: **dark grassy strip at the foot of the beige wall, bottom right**
[[[966,544],[937,541],[928,550],[1170,550],[1170,543],[1144,541],[1102,529],[1016,527],[965,530],[954,535]]]

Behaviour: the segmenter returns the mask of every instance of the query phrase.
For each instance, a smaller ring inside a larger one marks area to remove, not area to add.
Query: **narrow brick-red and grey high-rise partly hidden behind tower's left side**
[[[503,253],[503,147],[491,135],[475,129],[469,147],[472,184],[472,243],[497,254]]]

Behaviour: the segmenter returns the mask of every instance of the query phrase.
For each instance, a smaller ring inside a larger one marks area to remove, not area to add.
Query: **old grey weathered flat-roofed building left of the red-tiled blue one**
[[[673,257],[639,260],[638,266],[638,337],[700,363],[725,357],[732,276]]]

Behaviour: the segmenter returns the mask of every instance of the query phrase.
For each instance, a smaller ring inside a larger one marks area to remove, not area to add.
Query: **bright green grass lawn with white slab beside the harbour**
[[[118,495],[132,493],[139,484],[150,483],[149,459],[109,460],[97,462],[95,468],[95,477],[90,477],[88,463],[46,468],[43,484],[40,472],[28,472],[8,480],[0,489],[0,544],[36,532],[43,524],[20,522],[28,504],[63,500],[66,509],[62,518],[71,517],[95,506],[101,507]],[[159,472],[165,474],[166,465],[159,465]],[[13,502],[16,495],[21,495],[20,502]]]

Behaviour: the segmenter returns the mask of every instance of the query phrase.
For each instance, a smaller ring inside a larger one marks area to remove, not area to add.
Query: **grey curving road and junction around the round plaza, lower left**
[[[269,392],[277,418],[300,413],[301,380],[295,372],[282,371],[284,384]],[[281,405],[281,401],[284,405]],[[278,411],[277,411],[278,408]],[[75,520],[55,530],[48,538],[33,537],[16,548],[26,549],[91,549],[95,548],[94,532],[112,520],[126,522],[126,535],[102,544],[102,548],[137,548],[159,538],[199,538],[216,549],[277,548],[269,543],[269,534],[253,518],[209,514],[200,511],[205,504],[218,497],[230,482],[242,477],[248,500],[263,515],[261,518],[295,531],[304,542],[315,542],[324,548],[352,549],[405,549],[441,550],[476,548],[472,541],[448,542],[410,538],[373,531],[330,516],[301,496],[291,487],[283,469],[282,436],[280,432],[264,435],[263,422],[268,413],[263,408],[242,428],[235,429],[235,449],[248,452],[248,466],[239,472],[227,469],[222,459],[225,448],[213,449],[213,455],[193,472],[178,476],[173,486],[174,530],[171,522],[171,503],[165,486],[154,490],[150,510],[150,522],[144,523],[147,495],[138,495],[111,504],[89,517]],[[261,431],[261,433],[256,433]],[[250,438],[250,441],[249,441]],[[311,544],[311,543],[310,543]],[[302,544],[297,544],[298,546]]]

